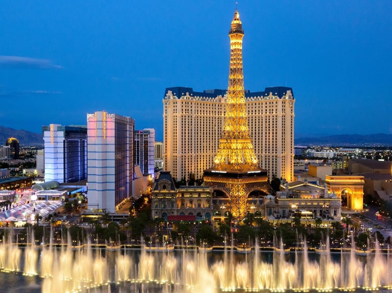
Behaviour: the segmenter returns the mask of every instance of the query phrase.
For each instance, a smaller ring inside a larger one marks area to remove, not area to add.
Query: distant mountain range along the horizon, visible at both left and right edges
[[[10,137],[18,139],[21,145],[43,144],[42,134],[0,125],[0,145],[5,144]],[[302,146],[392,146],[392,135],[301,135],[298,139],[294,139],[294,143]]]

